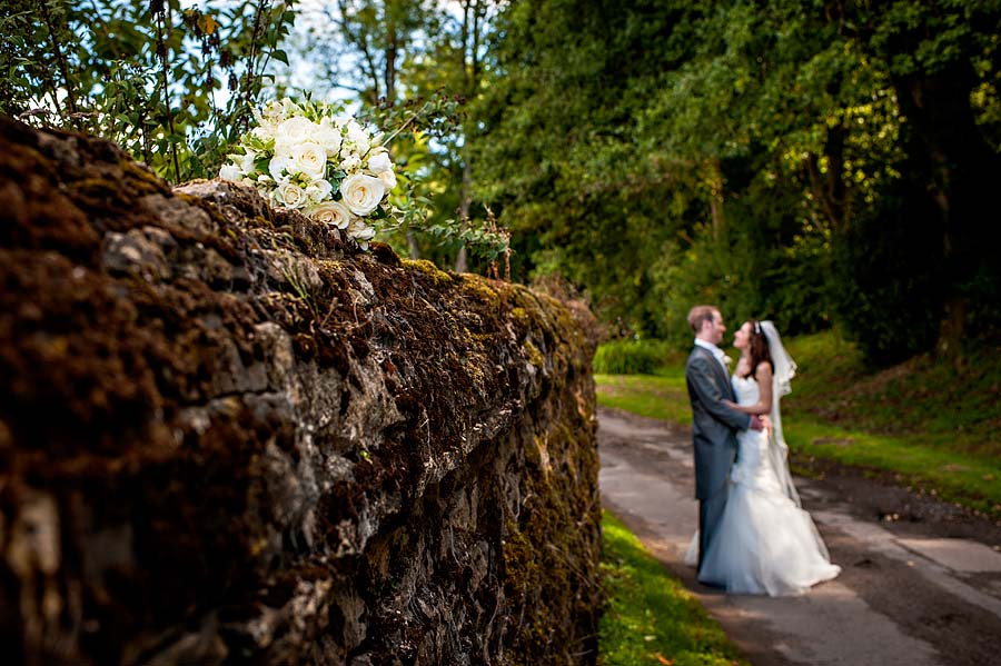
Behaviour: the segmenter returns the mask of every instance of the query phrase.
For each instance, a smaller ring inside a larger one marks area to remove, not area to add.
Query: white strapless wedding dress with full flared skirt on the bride
[[[735,376],[733,387],[741,405],[757,402],[753,378]],[[813,519],[799,506],[784,446],[776,455],[761,430],[740,433],[737,446],[726,507],[698,579],[730,593],[783,596],[838,576],[841,567],[831,564]],[[696,534],[685,561],[695,566],[697,558]]]

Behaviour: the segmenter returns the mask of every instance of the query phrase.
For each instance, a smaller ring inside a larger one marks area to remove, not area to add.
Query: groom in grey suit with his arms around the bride
[[[688,312],[695,348],[685,364],[688,400],[692,402],[692,437],[695,444],[695,498],[698,499],[698,573],[706,548],[716,536],[726,506],[727,477],[736,454],[736,433],[760,430],[761,419],[731,409],[736,402],[725,355],[717,347],[726,327],[715,306],[695,306]]]

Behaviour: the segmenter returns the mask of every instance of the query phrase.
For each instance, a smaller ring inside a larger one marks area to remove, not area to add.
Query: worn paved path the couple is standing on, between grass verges
[[[755,666],[1001,664],[998,526],[868,479],[796,479],[842,575],[799,597],[726,595],[682,563],[697,523],[688,430],[606,409],[598,421],[605,507]]]

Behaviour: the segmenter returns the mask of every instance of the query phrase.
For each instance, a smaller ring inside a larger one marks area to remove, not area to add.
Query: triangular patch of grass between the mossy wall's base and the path
[[[746,666],[715,620],[607,511],[602,530],[599,666]]]

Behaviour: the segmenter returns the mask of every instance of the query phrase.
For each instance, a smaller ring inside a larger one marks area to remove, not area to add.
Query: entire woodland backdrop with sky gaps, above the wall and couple
[[[716,302],[876,366],[1001,339],[1001,1],[8,0],[0,34],[0,112],[172,182],[276,96],[405,126],[380,238],[613,337]]]

